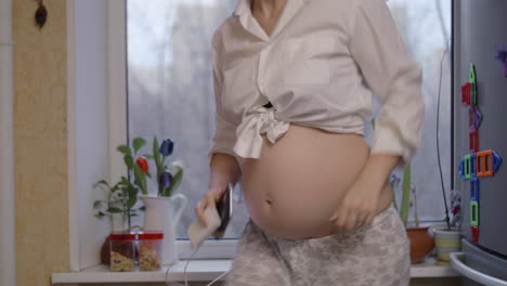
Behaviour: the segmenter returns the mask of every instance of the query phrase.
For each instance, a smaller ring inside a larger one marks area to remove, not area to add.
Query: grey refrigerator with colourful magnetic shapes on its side
[[[452,26],[452,184],[463,210],[452,265],[461,285],[507,286],[507,0],[454,0]]]

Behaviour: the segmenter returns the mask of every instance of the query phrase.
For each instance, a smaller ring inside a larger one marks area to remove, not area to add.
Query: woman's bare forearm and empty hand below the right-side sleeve
[[[399,161],[400,156],[395,155],[370,155],[363,171],[337,206],[329,221],[340,231],[370,225],[384,183]]]

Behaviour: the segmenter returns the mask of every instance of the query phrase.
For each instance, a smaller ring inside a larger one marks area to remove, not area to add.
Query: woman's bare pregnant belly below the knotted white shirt
[[[358,134],[292,123],[275,144],[264,138],[260,158],[246,159],[242,166],[251,219],[263,231],[285,238],[336,233],[329,218],[368,156],[369,147]],[[391,199],[386,182],[377,212]]]

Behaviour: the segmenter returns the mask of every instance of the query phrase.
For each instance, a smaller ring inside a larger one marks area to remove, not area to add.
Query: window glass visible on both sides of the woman
[[[192,206],[207,191],[207,151],[214,130],[214,99],[210,64],[210,39],[236,1],[128,0],[128,132],[129,138],[171,138],[172,159],[184,161],[184,182],[179,192],[190,207],[180,222],[179,237],[194,220]],[[388,4],[406,47],[424,68],[426,120],[421,147],[413,160],[419,217],[441,220],[440,176],[435,150],[435,112],[442,77],[441,154],[445,184],[450,172],[451,72],[450,52],[442,74],[441,58],[450,44],[451,0],[390,0]],[[378,109],[378,108],[377,108]],[[367,127],[367,138],[372,138]],[[448,187],[446,187],[448,191]],[[237,238],[248,219],[240,186],[235,190],[235,214],[227,238]]]

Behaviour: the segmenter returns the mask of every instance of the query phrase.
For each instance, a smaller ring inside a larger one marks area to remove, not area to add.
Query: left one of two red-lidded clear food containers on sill
[[[135,265],[135,234],[109,234],[110,270],[134,271]]]

